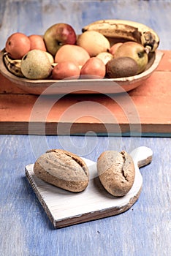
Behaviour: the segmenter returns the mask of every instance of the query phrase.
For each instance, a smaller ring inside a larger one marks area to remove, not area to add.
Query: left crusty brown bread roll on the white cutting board
[[[43,181],[71,192],[81,192],[88,186],[86,163],[63,149],[52,149],[42,154],[34,164],[34,173]]]

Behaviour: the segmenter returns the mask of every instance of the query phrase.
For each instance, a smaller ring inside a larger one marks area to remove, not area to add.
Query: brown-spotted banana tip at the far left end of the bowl
[[[3,61],[9,72],[11,72],[13,75],[18,76],[19,78],[24,78],[20,69],[20,59],[11,59],[9,58],[8,53],[4,52]]]

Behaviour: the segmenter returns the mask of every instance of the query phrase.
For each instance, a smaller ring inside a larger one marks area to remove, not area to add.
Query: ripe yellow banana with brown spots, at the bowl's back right
[[[153,29],[131,20],[96,20],[82,29],[98,31],[105,37],[122,38],[141,43],[148,51],[155,51],[159,46],[159,36]]]

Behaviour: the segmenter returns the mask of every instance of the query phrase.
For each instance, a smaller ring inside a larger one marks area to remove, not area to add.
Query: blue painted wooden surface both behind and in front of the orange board
[[[158,31],[170,49],[171,1],[1,1],[0,48],[9,34],[42,34],[67,22],[80,32],[101,18],[132,19]],[[140,169],[142,192],[129,211],[55,230],[26,180],[24,168],[49,148],[96,161],[104,150],[153,150]],[[171,138],[0,135],[0,255],[168,256],[171,252]]]

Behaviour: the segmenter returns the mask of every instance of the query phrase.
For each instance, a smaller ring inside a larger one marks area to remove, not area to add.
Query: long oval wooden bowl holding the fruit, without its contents
[[[164,53],[156,50],[149,54],[147,68],[139,75],[127,78],[104,79],[71,79],[71,80],[29,80],[12,75],[3,62],[0,52],[0,72],[4,77],[15,83],[18,88],[29,94],[116,94],[130,91],[147,80],[158,67]]]

